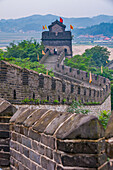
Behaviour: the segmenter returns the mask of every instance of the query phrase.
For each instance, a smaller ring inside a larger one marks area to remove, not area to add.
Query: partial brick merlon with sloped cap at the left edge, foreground
[[[15,111],[14,106],[0,98],[0,167],[7,167],[10,164],[9,120]]]

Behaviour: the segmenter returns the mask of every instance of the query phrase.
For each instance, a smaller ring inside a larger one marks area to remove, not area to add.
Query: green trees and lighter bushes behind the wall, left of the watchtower
[[[37,43],[32,38],[31,40],[23,40],[18,44],[12,42],[5,52],[0,50],[0,60],[5,60],[22,68],[46,74],[47,69],[43,64],[38,62],[37,58],[38,55],[39,59],[43,56],[42,50],[44,50],[43,44]],[[48,70],[48,74],[54,76],[52,70]]]

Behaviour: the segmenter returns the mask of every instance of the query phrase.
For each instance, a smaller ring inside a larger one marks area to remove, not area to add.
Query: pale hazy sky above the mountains
[[[113,16],[113,0],[0,0],[0,19],[34,14],[64,17]]]

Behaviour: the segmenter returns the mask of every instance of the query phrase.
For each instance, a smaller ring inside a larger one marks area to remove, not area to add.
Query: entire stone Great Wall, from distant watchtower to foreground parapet
[[[0,61],[0,167],[112,170],[112,118],[105,131],[96,117],[111,110],[109,79],[92,74],[89,83],[87,72],[63,64],[72,56],[72,37],[59,21],[43,32],[42,42],[46,54],[40,63],[53,68],[55,77]],[[48,103],[25,105],[25,98]],[[73,100],[90,114],[68,113]]]

